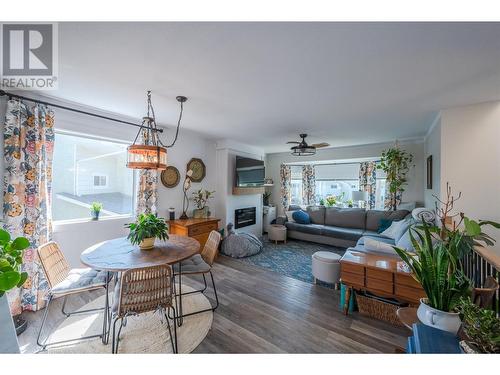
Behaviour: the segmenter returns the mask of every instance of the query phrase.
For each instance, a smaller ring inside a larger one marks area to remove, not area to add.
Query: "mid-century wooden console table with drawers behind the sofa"
[[[411,274],[398,270],[400,262],[398,256],[347,251],[340,259],[340,279],[347,286],[344,313],[349,312],[352,289],[418,305],[425,292]]]

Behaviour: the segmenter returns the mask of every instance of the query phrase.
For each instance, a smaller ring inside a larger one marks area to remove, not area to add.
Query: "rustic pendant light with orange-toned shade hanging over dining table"
[[[134,143],[127,147],[127,168],[158,170],[167,168],[167,148],[172,147],[177,141],[182,119],[183,104],[187,101],[185,96],[178,96],[176,99],[181,104],[177,130],[175,132],[174,141],[170,145],[165,146],[158,136],[159,129],[156,125],[155,111],[151,104],[151,91],[148,91],[147,116],[142,118],[141,128],[135,136]],[[140,135],[142,136],[141,143],[136,144]]]

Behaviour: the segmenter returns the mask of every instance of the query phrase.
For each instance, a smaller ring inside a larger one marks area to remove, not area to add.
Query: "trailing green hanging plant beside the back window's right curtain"
[[[377,169],[383,170],[386,174],[389,190],[389,201],[386,203],[386,208],[396,210],[398,204],[401,203],[401,197],[408,181],[406,175],[412,161],[413,155],[401,150],[397,142],[394,147],[382,151]]]

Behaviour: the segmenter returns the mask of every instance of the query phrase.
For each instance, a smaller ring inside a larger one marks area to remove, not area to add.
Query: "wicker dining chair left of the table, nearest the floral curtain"
[[[47,344],[48,337],[41,341],[43,327],[45,321],[47,320],[47,315],[49,313],[50,303],[54,298],[64,297],[61,312],[69,317],[74,314],[84,314],[95,311],[104,310],[105,307],[81,310],[74,312],[66,312],[66,300],[70,295],[77,293],[88,292],[96,289],[106,290],[106,305],[108,303],[108,282],[109,277],[107,272],[96,271],[91,268],[76,268],[70,269],[68,262],[64,258],[63,253],[59,249],[59,246],[55,242],[48,242],[40,247],[38,247],[38,257],[42,265],[43,271],[47,278],[49,284],[49,291],[47,296],[47,305],[45,306],[45,312],[43,314],[42,324],[40,330],[38,331],[37,344],[45,349],[49,345],[63,344],[70,341],[85,340],[100,337],[103,343],[107,343],[107,326],[109,321],[109,312],[104,314],[102,333],[98,335],[78,337],[75,339],[68,339],[59,342],[51,342]],[[105,306],[106,306],[105,305]]]

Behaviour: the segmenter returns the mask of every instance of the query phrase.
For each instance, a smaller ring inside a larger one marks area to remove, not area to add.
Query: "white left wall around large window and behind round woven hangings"
[[[26,96],[35,97],[36,94],[24,93]],[[51,102],[56,100],[50,99]],[[68,105],[68,103],[64,103]],[[105,113],[94,108],[79,106],[76,103],[70,103],[73,107],[101,113],[123,120],[139,122],[139,119],[130,119],[113,113]],[[5,115],[5,101],[0,103],[0,118],[3,126],[3,119]],[[96,137],[106,137],[126,142],[132,142],[135,138],[138,128],[119,124],[106,120],[101,120],[89,116],[79,115],[73,112],[55,109],[55,129],[78,132],[85,135],[93,135]],[[175,129],[167,128],[161,135],[161,138],[170,143]],[[1,131],[3,137],[3,129]],[[3,139],[1,139],[3,144]],[[3,147],[2,155],[0,155],[0,173],[3,176]],[[193,158],[201,158],[207,168],[205,179],[199,184],[193,184],[191,192],[200,187],[216,190],[216,168],[215,168],[215,141],[207,139],[198,133],[188,131],[182,128],[179,133],[179,139],[173,148],[168,149],[168,164],[174,165],[179,169],[182,174],[186,173],[186,165],[188,161]],[[182,177],[181,177],[182,179]],[[174,189],[167,189],[161,182],[158,187],[158,214],[162,217],[168,217],[168,208],[174,207],[176,209],[176,217],[181,214],[182,207],[182,181]],[[216,193],[217,197],[217,193]],[[212,215],[217,215],[216,202],[209,204],[212,208]],[[192,213],[193,204],[190,205],[190,215]],[[124,224],[130,222],[133,218],[115,218],[99,220],[98,222],[84,221],[78,223],[65,223],[63,225],[54,225],[53,238],[59,242],[65,256],[68,258],[71,266],[78,267],[80,253],[88,246],[101,242],[107,239],[116,238],[126,235]]]

